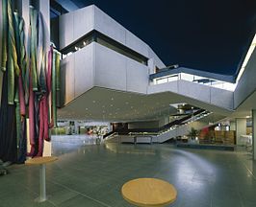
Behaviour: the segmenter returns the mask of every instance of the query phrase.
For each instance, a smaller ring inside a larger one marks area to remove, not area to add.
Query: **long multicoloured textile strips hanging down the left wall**
[[[40,12],[30,7],[29,28],[25,28],[24,20],[13,12],[11,0],[2,0],[2,10],[0,159],[24,163],[27,155],[42,156],[44,140],[50,141],[49,128],[57,127],[61,56],[52,46],[47,51],[48,34]]]

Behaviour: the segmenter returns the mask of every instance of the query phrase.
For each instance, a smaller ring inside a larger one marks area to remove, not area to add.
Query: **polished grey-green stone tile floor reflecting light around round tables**
[[[74,141],[74,140],[73,140]],[[38,167],[13,165],[0,176],[0,207],[132,206],[121,186],[158,177],[178,192],[170,206],[255,207],[256,163],[245,151],[188,150],[172,145],[81,145],[58,141],[55,163],[46,167],[48,201],[36,203]],[[90,143],[89,143],[90,144]],[[62,149],[62,145],[64,148]]]

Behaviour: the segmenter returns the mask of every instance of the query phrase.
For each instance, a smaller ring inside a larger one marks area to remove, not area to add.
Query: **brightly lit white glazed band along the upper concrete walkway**
[[[162,84],[170,81],[192,81],[198,84],[204,84],[224,90],[234,91],[236,89],[237,83],[231,83],[226,81],[218,81],[214,79],[209,79],[205,77],[195,76],[192,74],[186,74],[186,73],[178,73],[178,74],[172,74],[160,78],[156,78],[152,81],[152,84]]]

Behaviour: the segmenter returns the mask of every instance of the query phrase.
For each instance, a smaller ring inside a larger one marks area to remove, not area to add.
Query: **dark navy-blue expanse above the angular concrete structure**
[[[256,0],[72,0],[95,4],[166,65],[234,75],[256,31]]]

